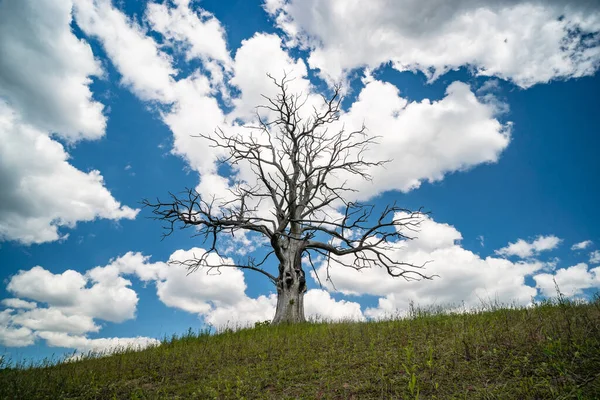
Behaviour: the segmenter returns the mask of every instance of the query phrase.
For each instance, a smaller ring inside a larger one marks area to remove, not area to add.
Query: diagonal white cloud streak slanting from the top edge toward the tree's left
[[[195,36],[198,29],[207,29],[212,35],[223,33],[216,25],[216,20],[206,20],[206,17],[198,19],[184,1],[178,1],[174,9],[166,4],[151,3],[147,17],[155,29],[162,31],[167,40],[175,43],[196,43],[200,40]],[[167,29],[165,18],[167,21],[183,19],[185,23],[179,28],[171,27],[175,30]],[[192,137],[198,133],[211,133],[224,124],[225,116],[214,97],[215,88],[211,80],[198,70],[176,80],[174,77],[179,71],[173,67],[172,57],[160,50],[156,41],[148,36],[145,27],[113,7],[110,0],[76,0],[75,19],[86,35],[100,41],[121,74],[123,85],[141,100],[164,106],[159,107],[158,112],[173,132],[172,152],[185,159],[196,171],[214,172],[219,153],[211,149],[209,143]],[[219,68],[229,68],[226,47],[222,48],[224,43],[213,43],[208,48],[197,46],[187,50],[190,57],[204,55],[204,64],[214,61],[218,62]],[[214,78],[215,67],[207,68],[213,71],[211,77]]]

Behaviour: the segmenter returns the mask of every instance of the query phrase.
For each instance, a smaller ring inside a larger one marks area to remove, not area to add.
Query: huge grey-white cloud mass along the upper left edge
[[[0,240],[66,238],[61,227],[96,218],[135,218],[102,175],[68,163],[67,141],[104,134],[102,105],[89,76],[101,73],[90,46],[71,32],[69,1],[0,5]]]

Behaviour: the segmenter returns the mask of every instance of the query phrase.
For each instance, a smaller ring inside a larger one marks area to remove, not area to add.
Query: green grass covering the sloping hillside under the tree
[[[600,298],[190,331],[144,351],[5,367],[0,398],[600,399]]]

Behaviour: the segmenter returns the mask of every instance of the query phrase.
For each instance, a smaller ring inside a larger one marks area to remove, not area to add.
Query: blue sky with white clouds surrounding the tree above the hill
[[[337,290],[309,279],[307,315],[526,305],[553,280],[596,292],[597,3],[355,3],[0,0],[0,352],[39,359],[270,319],[264,277],[167,264],[203,244],[190,231],[161,241],[140,201],[224,193],[231,171],[190,135],[243,129],[272,93],[265,74],[284,70],[311,99],[342,83],[342,121],[364,121],[381,136],[372,155],[394,160],[352,182],[357,196],[431,211],[394,256],[440,275],[333,268]]]

